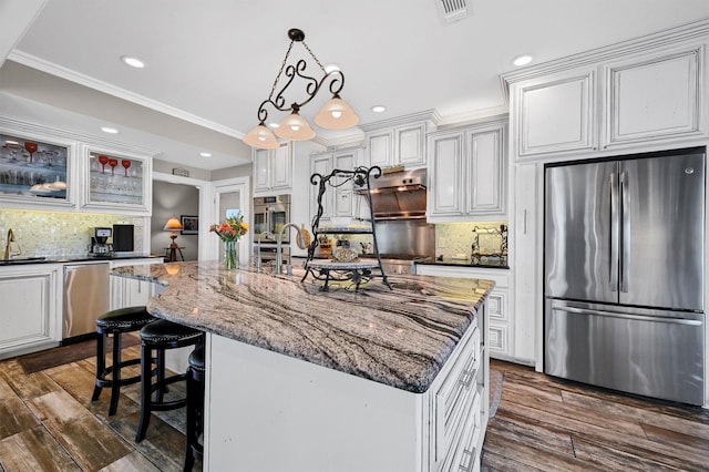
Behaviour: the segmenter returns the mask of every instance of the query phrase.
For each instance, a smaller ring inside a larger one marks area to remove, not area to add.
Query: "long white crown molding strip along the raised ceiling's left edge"
[[[239,140],[244,137],[244,133],[233,130],[230,127],[224,126],[219,123],[205,120],[201,116],[194,115],[192,113],[187,113],[183,110],[166,105],[165,103],[148,99],[137,93],[129,92],[127,90],[120,89],[106,82],[95,80],[88,75],[81,74],[76,71],[72,71],[71,69],[63,68],[53,62],[45,61],[35,55],[24,53],[17,49],[11,51],[10,54],[8,54],[8,59],[11,61],[18,62],[22,65],[27,65],[29,68],[37,69],[42,72],[47,72],[48,74],[52,74],[58,78],[68,80],[70,82],[74,82],[80,85],[88,86],[93,90],[97,90],[99,92],[103,92],[109,95],[116,96],[127,102],[135,103],[137,105],[145,106],[151,110],[155,110],[156,112],[164,113],[169,116],[174,116],[176,119],[206,127],[208,130],[216,131],[222,134],[226,134],[227,136],[236,137]]]

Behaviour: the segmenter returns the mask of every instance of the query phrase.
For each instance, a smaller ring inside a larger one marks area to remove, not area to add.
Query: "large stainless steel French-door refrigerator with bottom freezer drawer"
[[[544,371],[702,404],[703,148],[545,172]]]

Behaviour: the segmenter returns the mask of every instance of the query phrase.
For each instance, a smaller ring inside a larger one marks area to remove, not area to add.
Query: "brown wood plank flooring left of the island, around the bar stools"
[[[123,350],[124,359],[140,355],[140,346]],[[131,369],[137,374],[140,367]],[[109,417],[110,390],[91,402],[94,376],[95,357],[30,374],[17,359],[0,361],[0,471],[183,470],[184,408],[153,414],[136,444],[140,384],[121,390],[119,411]],[[181,387],[169,396],[184,394]]]

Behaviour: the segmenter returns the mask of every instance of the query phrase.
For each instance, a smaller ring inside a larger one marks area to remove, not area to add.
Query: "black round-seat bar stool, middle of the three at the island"
[[[165,319],[158,319],[141,329],[141,419],[135,442],[141,442],[145,438],[152,411],[175,410],[187,404],[186,397],[169,401],[163,399],[167,386],[187,378],[187,373],[165,377],[165,350],[197,343],[204,343],[204,332]],[[153,358],[157,362],[155,371],[152,369]],[[156,373],[155,383],[153,383],[153,373]],[[155,400],[152,398],[153,392],[156,392]]]

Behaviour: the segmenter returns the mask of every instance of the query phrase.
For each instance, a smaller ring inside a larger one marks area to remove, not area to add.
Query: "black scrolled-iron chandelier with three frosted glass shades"
[[[274,86],[270,90],[268,99],[264,100],[258,107],[258,125],[244,136],[244,142],[249,146],[264,150],[275,150],[279,146],[276,136],[289,141],[307,141],[315,137],[315,131],[312,131],[308,121],[300,116],[298,112],[302,105],[310,102],[318,94],[326,81],[329,81],[328,88],[330,89],[332,99],[328,100],[325,105],[322,105],[320,112],[315,117],[315,123],[318,126],[328,130],[347,130],[348,127],[352,127],[359,123],[359,116],[357,113],[354,113],[352,107],[345,100],[340,99],[340,91],[342,90],[342,86],[345,86],[345,74],[339,70],[330,72],[326,71],[320,61],[318,61],[318,58],[315,57],[312,51],[310,51],[310,48],[308,48],[308,44],[306,44],[306,34],[301,30],[296,28],[289,30],[288,38],[290,38],[290,45],[288,47],[284,62],[280,64],[280,70],[278,71],[278,75],[276,75]],[[308,51],[312,60],[318,64],[322,71],[322,78],[320,78],[320,80],[305,74],[307,65],[305,59],[300,59],[295,65],[286,64],[294,42],[302,43],[306,51]],[[284,74],[284,69],[288,81],[274,98],[274,93],[278,86],[278,81]],[[302,102],[294,102],[290,105],[286,105],[284,93],[290,84],[294,83],[296,76],[306,81],[305,91],[307,96]],[[276,129],[275,135],[265,124],[268,117],[268,104],[281,112],[290,111],[290,114],[286,116]]]

